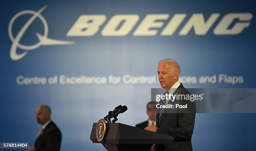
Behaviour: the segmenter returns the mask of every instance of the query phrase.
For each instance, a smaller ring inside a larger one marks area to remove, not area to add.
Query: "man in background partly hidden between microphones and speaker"
[[[148,126],[148,124],[156,126],[156,111],[153,111],[153,110],[156,110],[156,102],[154,101],[148,102],[147,104],[148,120],[140,124],[137,124],[136,127],[145,129]]]

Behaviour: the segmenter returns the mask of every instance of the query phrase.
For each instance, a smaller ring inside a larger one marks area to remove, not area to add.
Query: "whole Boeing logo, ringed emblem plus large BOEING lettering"
[[[13,60],[19,60],[23,58],[29,50],[34,50],[41,45],[71,45],[75,42],[61,41],[48,38],[48,24],[45,18],[41,15],[46,9],[46,6],[38,10],[38,12],[33,10],[23,10],[18,12],[10,20],[8,33],[10,40],[13,42],[10,49],[10,58]],[[13,22],[21,15],[31,14],[32,17],[23,25],[16,37],[13,37],[12,27]],[[194,13],[189,16],[187,22],[185,22],[188,17],[187,14],[148,14],[144,18],[137,14],[122,14],[113,15],[110,17],[108,22],[106,15],[80,15],[76,22],[67,32],[67,37],[90,37],[98,32],[102,36],[126,36],[132,31],[133,36],[172,36],[177,34],[179,36],[186,36],[191,30],[194,30],[195,35],[206,35],[210,29],[214,35],[238,35],[243,30],[248,28],[251,24],[251,19],[253,18],[250,12],[241,13],[228,13],[223,15],[220,21],[217,22],[220,13],[212,13],[210,17],[205,18],[202,13]],[[36,33],[39,42],[35,45],[22,45],[20,44],[20,39],[31,25],[31,23],[39,18],[44,25],[44,35]],[[212,28],[213,25],[216,25]],[[180,26],[183,26],[180,28]],[[100,29],[102,29],[100,31]],[[179,30],[180,29],[180,30]],[[177,31],[179,30],[179,31]],[[17,47],[25,50],[21,54],[17,54]]]

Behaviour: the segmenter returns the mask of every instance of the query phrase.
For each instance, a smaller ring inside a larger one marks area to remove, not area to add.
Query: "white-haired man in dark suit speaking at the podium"
[[[190,93],[179,83],[179,64],[173,59],[163,59],[158,65],[158,79],[168,94]],[[195,125],[195,102],[190,100],[161,100],[159,104],[187,104],[187,109],[158,109],[156,126],[145,129],[174,137],[171,144],[156,144],[157,151],[192,151],[192,134]]]

